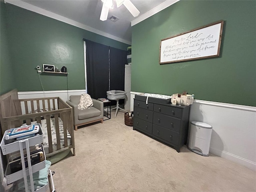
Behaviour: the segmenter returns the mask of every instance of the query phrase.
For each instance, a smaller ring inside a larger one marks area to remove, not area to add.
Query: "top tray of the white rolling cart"
[[[40,144],[43,142],[43,131],[42,131],[41,124],[38,123],[36,125],[39,125],[39,135],[28,138],[29,146],[35,146],[36,144]],[[6,133],[7,133],[7,131],[4,132],[4,136],[0,143],[3,155],[20,150],[19,141],[12,142],[12,141],[14,141],[14,139],[10,139],[10,141],[9,140],[7,141],[4,139],[6,136]],[[11,142],[11,143],[9,143],[9,142]],[[23,148],[26,148],[25,143],[23,143]]]

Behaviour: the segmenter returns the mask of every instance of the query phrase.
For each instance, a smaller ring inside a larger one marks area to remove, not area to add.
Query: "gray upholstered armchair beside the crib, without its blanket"
[[[77,109],[78,104],[80,103],[80,95],[71,95],[69,100],[66,101],[67,104],[73,108],[73,118],[74,118],[74,127],[77,130],[78,126],[101,121],[103,123],[103,102],[93,99],[93,106],[90,106],[88,109],[79,110]]]

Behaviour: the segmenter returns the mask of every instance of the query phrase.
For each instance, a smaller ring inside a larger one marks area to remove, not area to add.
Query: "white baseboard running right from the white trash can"
[[[217,149],[214,149],[211,147],[210,147],[210,153],[220,156],[224,159],[230,160],[232,162],[238,163],[242,166],[249,168],[250,170],[256,171],[256,163],[255,162],[246,160],[246,159],[236,156],[234,154],[231,154],[231,153],[228,153],[225,151],[220,151],[220,150],[217,150]]]

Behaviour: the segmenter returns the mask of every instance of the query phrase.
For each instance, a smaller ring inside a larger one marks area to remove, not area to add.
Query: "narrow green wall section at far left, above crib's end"
[[[14,68],[10,60],[5,19],[6,10],[4,9],[4,3],[0,1],[0,95],[16,88],[13,75]]]

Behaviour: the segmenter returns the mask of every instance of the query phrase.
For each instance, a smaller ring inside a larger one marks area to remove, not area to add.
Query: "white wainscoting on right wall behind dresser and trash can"
[[[212,126],[210,153],[256,171],[256,107],[194,100],[191,121]]]

